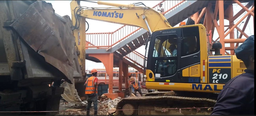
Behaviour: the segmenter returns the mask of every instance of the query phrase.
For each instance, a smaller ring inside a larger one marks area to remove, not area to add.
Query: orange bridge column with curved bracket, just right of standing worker
[[[89,54],[89,56],[99,59],[106,67],[106,72],[109,76],[108,79],[108,93],[113,93],[113,63],[114,54]]]

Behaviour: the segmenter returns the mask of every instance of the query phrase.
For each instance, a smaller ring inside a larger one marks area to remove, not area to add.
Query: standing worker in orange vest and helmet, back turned
[[[96,69],[92,69],[91,73],[92,76],[89,77],[86,82],[84,83],[84,87],[85,87],[85,94],[88,96],[87,98],[87,116],[90,115],[90,107],[92,105],[93,102],[93,107],[94,107],[94,115],[97,115],[98,113],[98,78],[97,78],[97,70]]]

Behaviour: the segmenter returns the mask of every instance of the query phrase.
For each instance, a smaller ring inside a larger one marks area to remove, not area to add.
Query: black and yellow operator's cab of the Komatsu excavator
[[[153,32],[148,50],[147,62],[150,63],[147,63],[146,68],[152,71],[152,75],[147,73],[146,80],[200,83],[201,60],[207,59],[207,38],[205,37],[205,28],[201,24],[171,27]],[[189,66],[194,66],[194,72],[182,71]]]

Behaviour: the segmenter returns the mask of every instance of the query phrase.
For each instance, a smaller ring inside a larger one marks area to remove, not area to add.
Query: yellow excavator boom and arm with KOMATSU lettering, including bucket
[[[150,7],[135,6],[134,4],[108,3],[104,1],[98,1],[94,3],[110,5],[114,7],[89,8],[86,6],[81,6],[80,1],[75,0],[70,3],[73,23],[73,26],[71,28],[73,31],[73,35],[75,36],[75,48],[78,55],[78,62],[80,64],[82,76],[84,79],[86,77],[86,18],[116,24],[141,27],[148,30],[150,34],[152,34],[152,32],[156,29],[171,27],[169,22],[161,13],[156,12]],[[61,96],[71,103],[84,103],[82,101],[85,100],[87,96],[84,94],[84,87],[82,85],[84,84],[86,79],[84,80],[84,82],[77,82],[76,80],[75,84],[69,84],[67,82],[61,84],[61,86],[65,88],[64,94],[62,94]]]

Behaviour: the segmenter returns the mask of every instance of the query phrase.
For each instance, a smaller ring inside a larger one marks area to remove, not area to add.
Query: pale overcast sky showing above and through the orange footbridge
[[[60,1],[59,0],[58,1],[46,0],[46,2],[52,4],[52,7],[55,10],[55,13],[59,14],[60,16],[68,15],[71,18],[71,10],[70,10],[71,0],[60,0]],[[97,2],[97,1],[94,1],[94,2]],[[107,2],[122,3],[122,4],[138,3],[137,0],[107,0]],[[153,7],[154,5],[161,2],[161,0],[150,0],[150,1],[145,0],[145,1],[140,1],[140,2],[144,3],[146,6]],[[97,3],[90,3],[90,2],[81,2],[81,6],[109,7],[109,6],[106,6],[106,5],[98,5]],[[233,9],[234,9],[234,15],[235,15],[242,8],[237,4],[233,4]],[[238,20],[240,20],[244,16],[245,13],[247,13],[247,12],[244,12],[243,15],[241,15],[238,19],[236,19],[234,21],[234,23],[236,24],[236,22]],[[245,21],[245,20],[246,20],[246,18],[243,21]],[[87,33],[113,32],[117,28],[123,26],[123,25],[120,25],[120,24],[108,23],[108,22],[97,21],[97,20],[92,20],[92,19],[86,19],[86,21],[90,25],[89,30],[87,31]],[[219,23],[219,21],[218,21],[218,23]],[[228,25],[228,23],[229,23],[229,21],[224,19],[224,25]],[[241,24],[240,28],[242,29],[243,26],[244,26],[244,23]],[[173,26],[173,27],[175,27],[175,26]],[[225,29],[226,28],[227,27],[225,27]],[[213,35],[213,39],[215,40],[218,37],[218,34],[217,34],[216,29],[214,30],[214,32],[215,33]],[[252,17],[250,18],[249,24],[247,25],[244,32],[249,36],[254,34]],[[239,33],[239,35],[240,35],[240,33]],[[229,35],[226,38],[229,38]],[[235,38],[236,38],[236,29],[235,29]],[[243,36],[242,38],[245,38],[245,37]],[[230,44],[225,44],[226,47],[230,47],[229,45]],[[141,46],[136,51],[138,51],[138,52],[140,52],[141,54],[144,55],[145,54],[145,46],[144,45]],[[102,68],[104,66],[102,63],[95,63],[95,62],[92,62],[92,61],[89,61],[89,60],[86,60],[85,63],[86,63],[86,67],[85,67],[86,69],[88,69],[88,68]]]

